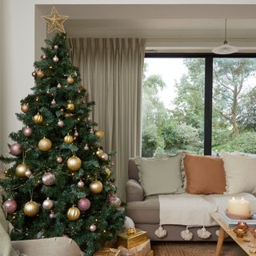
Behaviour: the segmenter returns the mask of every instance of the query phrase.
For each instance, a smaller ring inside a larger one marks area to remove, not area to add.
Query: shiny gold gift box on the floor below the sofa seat
[[[147,241],[147,232],[136,229],[136,233],[127,234],[123,232],[118,234],[118,246],[124,246],[127,249],[133,248]]]

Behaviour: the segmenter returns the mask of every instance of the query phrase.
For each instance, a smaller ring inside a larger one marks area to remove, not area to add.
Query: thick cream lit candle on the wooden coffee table
[[[232,198],[228,201],[227,210],[229,214],[247,216],[250,214],[250,203],[244,198]]]

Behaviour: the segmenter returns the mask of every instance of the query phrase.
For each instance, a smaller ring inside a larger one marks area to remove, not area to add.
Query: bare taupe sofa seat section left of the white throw
[[[159,224],[159,199],[158,195],[151,195],[140,202],[128,202],[126,215],[141,224]]]

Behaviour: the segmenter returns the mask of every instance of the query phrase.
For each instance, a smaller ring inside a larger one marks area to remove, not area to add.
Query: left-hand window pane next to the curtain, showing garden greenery
[[[142,156],[203,152],[204,58],[146,58]]]

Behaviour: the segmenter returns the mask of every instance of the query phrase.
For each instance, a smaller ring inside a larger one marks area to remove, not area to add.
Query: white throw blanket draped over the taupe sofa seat
[[[216,226],[211,212],[226,210],[228,199],[245,198],[256,202],[252,194],[166,194],[159,195],[160,225]]]

